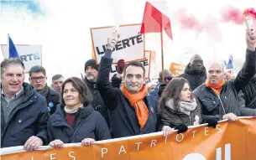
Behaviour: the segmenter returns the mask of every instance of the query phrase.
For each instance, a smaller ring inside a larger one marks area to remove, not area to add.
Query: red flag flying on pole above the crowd
[[[159,33],[162,32],[162,28],[165,29],[165,33],[172,39],[170,18],[161,13],[151,3],[146,2],[140,33]]]

